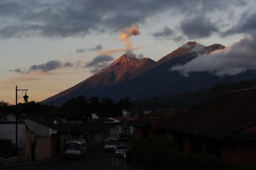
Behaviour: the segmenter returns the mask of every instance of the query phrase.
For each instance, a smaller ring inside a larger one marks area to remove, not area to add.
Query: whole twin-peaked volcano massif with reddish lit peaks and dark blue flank
[[[124,54],[88,79],[41,103],[50,105],[53,101],[55,106],[60,106],[78,95],[109,97],[115,101],[125,97],[146,99],[206,89],[224,81],[236,82],[256,78],[256,73],[252,70],[223,77],[209,72],[195,72],[190,73],[189,77],[184,77],[177,71],[169,71],[171,67],[184,65],[200,54],[224,48],[221,44],[204,46],[188,42],[157,62]]]

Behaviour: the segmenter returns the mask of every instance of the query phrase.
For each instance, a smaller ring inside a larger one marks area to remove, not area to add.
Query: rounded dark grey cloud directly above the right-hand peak
[[[214,32],[218,32],[218,28],[211,22],[210,18],[203,16],[182,20],[180,28],[189,39],[207,38]]]

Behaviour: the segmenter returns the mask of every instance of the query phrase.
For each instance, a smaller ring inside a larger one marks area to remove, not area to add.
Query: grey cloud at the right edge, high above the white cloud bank
[[[233,34],[252,33],[256,30],[256,13],[248,14],[247,12],[242,14],[238,24],[233,26],[229,30],[222,33],[222,36],[229,36]]]

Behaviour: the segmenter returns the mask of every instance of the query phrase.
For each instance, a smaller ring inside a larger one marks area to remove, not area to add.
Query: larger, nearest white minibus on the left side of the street
[[[66,158],[82,158],[87,150],[87,143],[84,140],[70,140],[64,151]]]

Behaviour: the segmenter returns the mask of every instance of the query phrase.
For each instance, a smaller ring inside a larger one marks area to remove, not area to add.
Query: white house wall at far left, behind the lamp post
[[[18,124],[18,146],[25,144],[25,123]],[[16,125],[15,123],[0,124],[0,138],[11,139],[12,144],[16,144]]]

